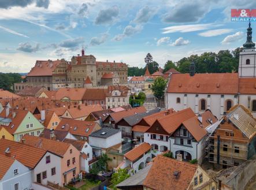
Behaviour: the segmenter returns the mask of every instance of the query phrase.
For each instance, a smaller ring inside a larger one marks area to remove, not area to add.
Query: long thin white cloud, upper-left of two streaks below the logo
[[[172,27],[163,28],[164,32],[162,33],[174,33],[174,32],[194,32],[202,31],[205,29],[210,29],[214,27],[220,27],[221,24],[188,24],[188,25],[175,25]]]

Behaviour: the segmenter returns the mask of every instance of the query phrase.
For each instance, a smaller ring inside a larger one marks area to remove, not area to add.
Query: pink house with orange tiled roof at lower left
[[[80,152],[72,144],[30,135],[23,136],[21,141],[24,144],[50,151],[61,158],[60,163],[56,163],[56,165],[60,164],[61,167],[61,173],[58,174],[61,176],[60,185],[68,184],[73,178],[78,177],[80,173]]]

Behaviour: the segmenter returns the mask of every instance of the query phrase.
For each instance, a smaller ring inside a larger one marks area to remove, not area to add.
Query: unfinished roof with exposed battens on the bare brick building
[[[256,135],[256,121],[243,106],[235,107],[227,117],[248,139]]]

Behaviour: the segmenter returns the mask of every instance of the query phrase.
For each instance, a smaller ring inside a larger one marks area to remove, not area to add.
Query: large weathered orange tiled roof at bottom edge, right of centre
[[[154,190],[185,190],[188,189],[197,168],[198,165],[158,155],[143,185]],[[174,172],[179,172],[177,178],[173,175]]]

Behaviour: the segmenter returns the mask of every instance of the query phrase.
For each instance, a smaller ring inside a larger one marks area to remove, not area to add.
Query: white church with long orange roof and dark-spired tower
[[[196,73],[195,64],[191,63],[190,73],[170,74],[166,109],[179,111],[191,107],[196,114],[211,110],[220,119],[232,106],[240,104],[256,117],[256,51],[252,33],[249,23],[238,73]]]

